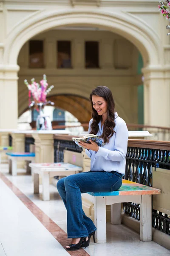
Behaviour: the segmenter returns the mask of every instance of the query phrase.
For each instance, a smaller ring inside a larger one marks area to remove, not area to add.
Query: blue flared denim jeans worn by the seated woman
[[[67,209],[68,238],[89,236],[96,230],[93,221],[82,209],[81,193],[111,192],[122,185],[118,172],[81,172],[64,177],[57,182],[57,189]]]

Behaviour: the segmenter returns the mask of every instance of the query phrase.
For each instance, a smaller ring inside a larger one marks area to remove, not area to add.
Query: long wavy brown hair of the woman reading
[[[91,123],[90,134],[97,134],[97,132],[99,130],[98,124],[99,124],[100,120],[102,120],[102,116],[99,116],[97,111],[93,107],[93,102],[92,102],[93,95],[102,97],[103,99],[105,99],[105,101],[108,104],[107,119],[103,126],[103,133],[100,136],[103,139],[104,143],[108,143],[109,139],[113,136],[113,133],[115,133],[115,131],[113,131],[113,129],[115,128],[115,122],[114,122],[115,104],[114,104],[113,95],[112,95],[111,90],[106,86],[98,86],[94,90],[92,90],[92,92],[90,94],[90,101],[91,101],[93,122]]]

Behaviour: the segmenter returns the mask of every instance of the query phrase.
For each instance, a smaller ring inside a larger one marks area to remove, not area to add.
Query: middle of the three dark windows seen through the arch
[[[57,41],[57,68],[71,68],[71,41]]]

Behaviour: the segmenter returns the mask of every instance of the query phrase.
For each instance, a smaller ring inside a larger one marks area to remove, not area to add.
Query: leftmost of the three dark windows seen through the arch
[[[43,68],[43,41],[31,40],[29,41],[29,67]]]

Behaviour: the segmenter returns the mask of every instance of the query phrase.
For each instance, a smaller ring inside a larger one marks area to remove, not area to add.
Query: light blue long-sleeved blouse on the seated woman
[[[89,122],[88,132],[91,130],[91,123]],[[115,113],[115,128],[116,134],[110,138],[109,143],[106,143],[104,147],[99,147],[99,150],[85,150],[88,157],[91,158],[91,171],[116,171],[125,175],[126,165],[126,153],[127,153],[127,141],[128,130],[125,121]],[[103,125],[101,127],[101,121],[99,122],[99,130],[97,135],[102,135]]]

